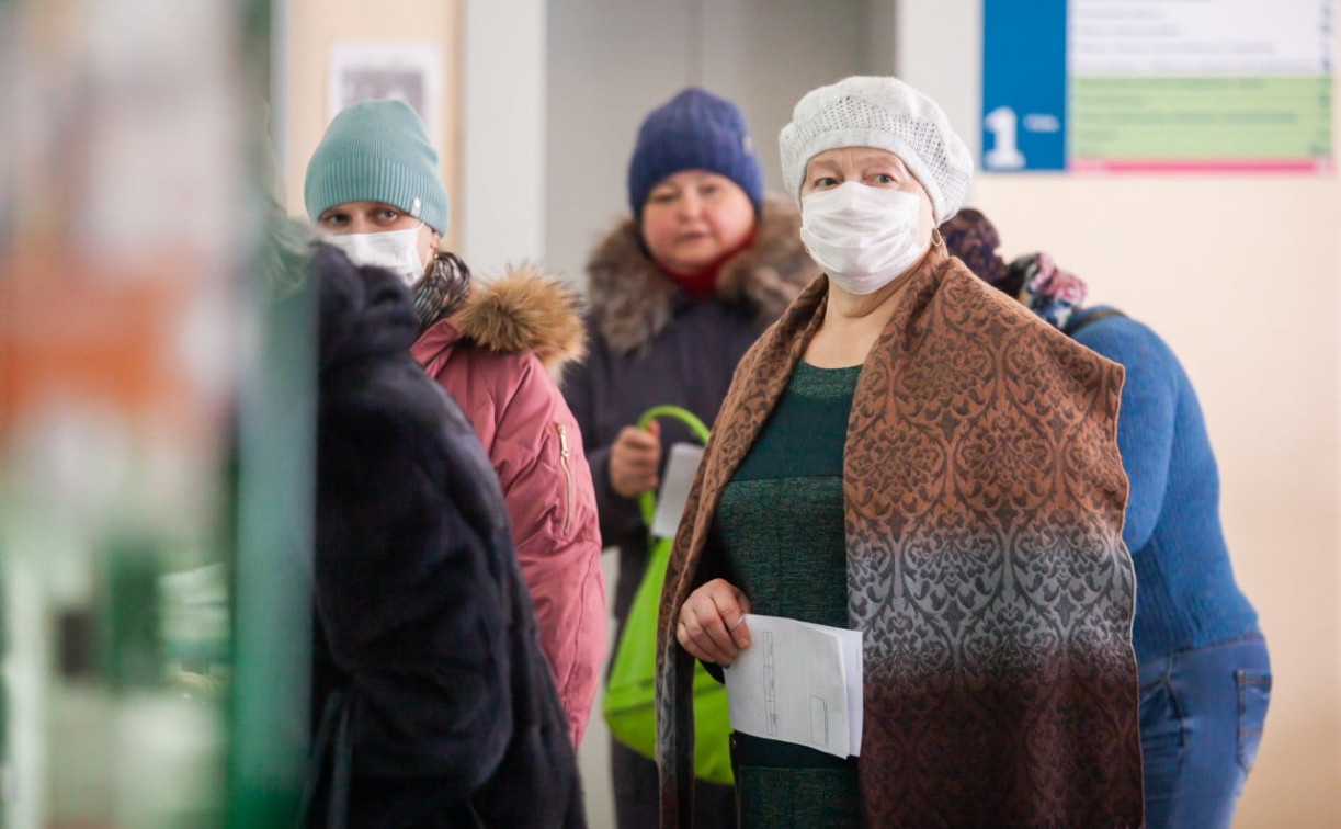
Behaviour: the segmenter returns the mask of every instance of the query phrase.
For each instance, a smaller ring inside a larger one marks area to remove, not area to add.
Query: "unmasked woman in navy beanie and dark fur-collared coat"
[[[661,404],[712,423],[740,357],[818,275],[797,208],[764,195],[744,117],[712,93],[685,89],[646,115],[628,199],[630,216],[587,263],[590,351],[565,384],[601,537],[620,547],[621,632],[648,561],[637,498],[657,487],[666,448],[693,440],[679,424],[634,423]],[[621,829],[657,825],[656,763],[611,740],[611,771]],[[699,828],[735,826],[732,789],[701,785],[695,818]]]

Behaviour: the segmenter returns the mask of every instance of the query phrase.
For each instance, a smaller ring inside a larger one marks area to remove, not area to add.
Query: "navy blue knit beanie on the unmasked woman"
[[[734,103],[696,86],[652,110],[629,161],[629,208],[642,216],[648,193],[666,176],[709,170],[736,182],[759,211],[763,170],[746,119]]]

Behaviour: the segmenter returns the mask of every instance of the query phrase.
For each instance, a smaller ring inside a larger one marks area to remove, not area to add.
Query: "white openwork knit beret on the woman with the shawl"
[[[941,223],[959,211],[974,158],[936,102],[897,78],[853,76],[806,93],[778,135],[782,178],[801,199],[806,165],[825,150],[873,146],[898,156]]]

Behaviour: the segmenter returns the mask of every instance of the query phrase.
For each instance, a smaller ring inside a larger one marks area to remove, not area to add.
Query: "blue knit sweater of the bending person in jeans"
[[[1085,309],[1082,318],[1098,309]],[[1075,341],[1126,369],[1117,448],[1130,484],[1122,541],[1136,565],[1137,661],[1257,630],[1220,531],[1220,480],[1202,406],[1177,357],[1126,317]]]

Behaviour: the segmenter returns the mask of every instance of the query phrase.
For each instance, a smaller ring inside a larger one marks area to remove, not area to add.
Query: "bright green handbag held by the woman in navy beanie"
[[[708,443],[708,428],[680,406],[656,406],[638,419],[646,428],[657,417],[675,417],[689,427],[701,443]],[[652,526],[656,499],[644,492],[638,499],[642,520]],[[656,759],[656,675],[657,675],[657,608],[661,585],[670,563],[672,538],[649,539],[648,569],[633,597],[629,618],[624,622],[620,648],[610,665],[605,689],[605,722],[610,734],[642,757]],[[712,679],[699,661],[693,664],[693,774],[709,783],[730,786],[731,727],[727,715],[727,688]]]

